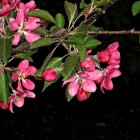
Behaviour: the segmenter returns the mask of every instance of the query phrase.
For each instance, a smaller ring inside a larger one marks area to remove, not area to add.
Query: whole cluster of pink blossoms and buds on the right
[[[96,91],[96,84],[100,84],[102,93],[105,93],[104,89],[112,90],[112,78],[121,75],[118,69],[120,67],[120,53],[118,47],[119,43],[114,42],[93,58],[89,56],[91,50],[88,50],[85,60],[80,64],[82,71],[80,70],[63,82],[63,85],[69,83],[69,95],[72,97],[77,95],[79,101],[86,100],[89,97],[89,93]],[[102,68],[100,62],[109,65],[106,68]]]

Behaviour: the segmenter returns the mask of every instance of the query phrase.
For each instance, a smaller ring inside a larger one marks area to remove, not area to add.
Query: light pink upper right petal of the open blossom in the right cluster
[[[88,75],[88,78],[91,80],[98,80],[102,77],[102,72],[99,70],[94,70],[92,72],[85,71],[85,74]]]

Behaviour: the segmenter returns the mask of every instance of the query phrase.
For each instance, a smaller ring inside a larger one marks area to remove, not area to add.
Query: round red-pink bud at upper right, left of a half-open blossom
[[[110,58],[110,54],[108,50],[103,50],[98,53],[98,58],[101,62],[107,62]]]

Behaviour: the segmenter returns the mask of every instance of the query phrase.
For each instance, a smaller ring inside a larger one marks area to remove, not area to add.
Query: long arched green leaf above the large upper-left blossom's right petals
[[[50,21],[52,23],[55,23],[53,16],[48,11],[45,11],[45,10],[30,11],[28,12],[28,16],[35,16],[35,17]]]

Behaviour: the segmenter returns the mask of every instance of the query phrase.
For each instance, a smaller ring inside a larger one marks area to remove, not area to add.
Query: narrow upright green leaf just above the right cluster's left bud
[[[77,45],[76,47],[78,48],[79,58],[80,61],[82,62],[86,56],[86,47],[85,45]]]

